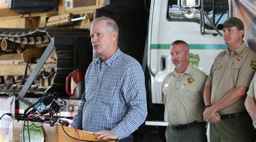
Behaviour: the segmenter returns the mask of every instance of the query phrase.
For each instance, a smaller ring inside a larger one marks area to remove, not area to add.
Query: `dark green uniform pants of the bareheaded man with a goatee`
[[[171,126],[167,126],[165,138],[167,142],[205,142],[207,141],[205,124],[201,123],[184,130],[173,130]]]

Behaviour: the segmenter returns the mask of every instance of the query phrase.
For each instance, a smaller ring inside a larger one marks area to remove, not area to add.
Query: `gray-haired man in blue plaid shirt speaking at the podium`
[[[86,71],[85,91],[73,125],[98,134],[97,138],[133,141],[132,132],[147,116],[142,67],[118,48],[118,26],[113,19],[95,19],[90,36],[99,58]]]

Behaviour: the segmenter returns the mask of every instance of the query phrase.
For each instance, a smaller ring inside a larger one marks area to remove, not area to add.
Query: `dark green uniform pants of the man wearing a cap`
[[[221,119],[210,124],[211,142],[250,142],[254,141],[252,120],[250,116]]]

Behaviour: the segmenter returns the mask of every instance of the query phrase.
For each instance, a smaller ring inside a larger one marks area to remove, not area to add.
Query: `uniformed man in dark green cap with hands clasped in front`
[[[205,83],[203,116],[210,123],[210,140],[253,141],[252,120],[244,103],[256,54],[242,40],[244,24],[239,18],[227,18],[217,28],[223,30],[228,47],[215,58]]]

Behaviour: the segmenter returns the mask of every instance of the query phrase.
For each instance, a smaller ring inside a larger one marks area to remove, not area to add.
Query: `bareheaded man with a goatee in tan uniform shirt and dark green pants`
[[[169,123],[167,141],[207,141],[203,119],[203,89],[207,75],[188,62],[190,52],[183,40],[171,44],[171,59],[175,70],[162,85],[164,120]]]

